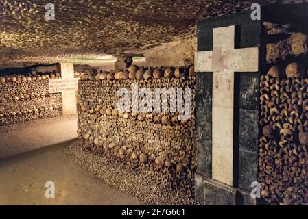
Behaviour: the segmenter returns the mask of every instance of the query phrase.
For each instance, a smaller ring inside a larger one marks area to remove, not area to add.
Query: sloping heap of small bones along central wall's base
[[[64,154],[113,188],[138,198],[146,205],[200,205],[185,192],[170,190],[137,171],[110,162],[106,156],[82,150],[82,142],[67,146]]]

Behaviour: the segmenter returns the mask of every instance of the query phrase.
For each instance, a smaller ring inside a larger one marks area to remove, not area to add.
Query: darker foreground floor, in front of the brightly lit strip
[[[72,142],[73,140],[71,140]],[[0,161],[0,205],[142,205],[64,156],[66,142]],[[54,182],[55,198],[45,197]]]

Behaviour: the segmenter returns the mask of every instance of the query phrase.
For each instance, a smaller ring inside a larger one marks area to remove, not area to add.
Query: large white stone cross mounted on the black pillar
[[[259,70],[259,48],[235,49],[235,26],[213,29],[213,51],[195,53],[196,72],[213,72],[212,178],[233,185],[234,73]]]

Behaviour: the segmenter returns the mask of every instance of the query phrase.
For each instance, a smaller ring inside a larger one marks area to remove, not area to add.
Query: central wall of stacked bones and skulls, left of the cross
[[[84,149],[192,196],[196,170],[193,67],[130,66],[117,73],[84,74],[80,78],[78,133]],[[191,118],[178,120],[177,113],[118,112],[120,97],[116,92],[131,89],[132,83],[138,83],[139,88],[191,88]]]

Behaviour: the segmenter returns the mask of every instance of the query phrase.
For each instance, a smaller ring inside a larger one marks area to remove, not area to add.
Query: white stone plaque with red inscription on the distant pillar
[[[49,93],[55,94],[78,89],[78,78],[49,79]]]

